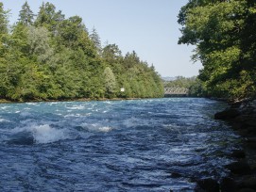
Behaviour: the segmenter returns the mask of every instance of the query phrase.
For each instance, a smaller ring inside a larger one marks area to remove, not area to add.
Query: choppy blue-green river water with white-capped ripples
[[[174,191],[221,179],[225,104],[169,98],[0,104],[1,191]]]

